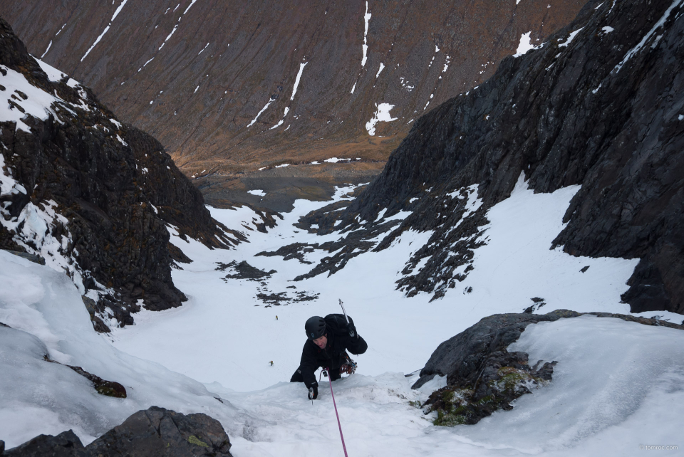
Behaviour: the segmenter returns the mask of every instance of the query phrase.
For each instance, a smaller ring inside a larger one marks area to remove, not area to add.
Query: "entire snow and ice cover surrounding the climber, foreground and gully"
[[[349,190],[338,189],[335,199]],[[268,234],[252,230],[250,209],[212,209],[219,221],[248,233],[250,243],[209,251],[174,236],[194,260],[174,273],[189,302],[142,311],[136,325],[113,335],[93,331],[66,275],[0,251],[0,322],[13,327],[0,326],[0,439],[11,448],[37,434],[73,429],[88,442],[155,404],[218,419],[236,457],[341,456],[328,384],[323,379],[320,399],[311,404],[301,384],[287,381],[299,363],[304,320],[338,312],[342,298],[370,347],[355,357],[357,374],[333,383],[351,456],[629,456],[641,455],[641,444],[677,445],[684,414],[673,405],[684,400],[684,333],[617,319],[578,317],[527,327],[509,350],[528,352],[531,361],[557,360],[554,381],[480,424],[432,426],[432,417],[409,403],[424,401],[445,379],[414,391],[415,374],[403,372],[422,367],[440,342],[485,315],[520,312],[536,296],[548,303],[541,312],[627,312],[619,295],[635,261],[549,250],[576,191],[534,194],[519,182],[487,215],[487,245],[477,249],[475,270],[462,283],[472,293],[451,289],[432,303],[430,295],[404,298],[393,288],[403,263],[430,233],[404,233],[390,248],[353,258],[329,278],[296,283],[291,278],[313,264],[254,256],[294,241],[338,237],[292,226],[320,202],[297,201]],[[323,255],[314,251],[306,259]],[[261,284],[224,280],[234,272],[216,270],[217,262],[242,260],[277,273]],[[590,268],[581,273],[584,266]],[[304,290],[320,295],[270,308],[254,298],[259,291],[294,297]],[[120,382],[128,399],[96,394],[68,367],[44,362],[43,354]]]

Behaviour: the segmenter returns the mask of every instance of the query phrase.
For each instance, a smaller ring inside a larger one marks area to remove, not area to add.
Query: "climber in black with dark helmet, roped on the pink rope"
[[[318,397],[318,382],[314,372],[319,367],[328,368],[331,381],[341,378],[341,372],[353,373],[356,364],[349,358],[352,354],[363,354],[368,344],[358,336],[354,321],[349,323],[341,314],[329,314],[325,318],[314,316],[304,325],[307,340],[301,350],[299,368],[290,382],[304,382],[309,389],[309,400]]]

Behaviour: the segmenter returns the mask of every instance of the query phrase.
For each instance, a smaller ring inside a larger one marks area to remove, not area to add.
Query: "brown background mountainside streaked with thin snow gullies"
[[[34,56],[159,138],[187,174],[205,175],[384,161],[411,120],[482,83],[523,35],[540,43],[583,4],[27,0],[3,2],[0,16]],[[383,103],[396,120],[374,124]]]

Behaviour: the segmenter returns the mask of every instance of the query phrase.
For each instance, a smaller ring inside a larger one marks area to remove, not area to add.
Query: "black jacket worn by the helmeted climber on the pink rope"
[[[328,344],[326,349],[316,346],[311,340],[306,340],[304,349],[301,350],[301,362],[299,362],[299,372],[304,378],[306,389],[311,386],[318,386],[316,382],[316,370],[319,367],[331,370],[339,369],[344,362],[344,352],[348,350],[352,354],[363,354],[368,349],[368,344],[358,333],[350,337],[347,332],[347,322],[341,314],[329,314],[323,319],[326,320],[326,332]],[[349,322],[354,321],[349,317]]]

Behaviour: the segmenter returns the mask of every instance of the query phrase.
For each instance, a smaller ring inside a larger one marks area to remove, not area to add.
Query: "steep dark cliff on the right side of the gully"
[[[539,192],[581,184],[554,246],[641,258],[623,300],[633,312],[684,313],[681,14],[669,0],[590,1],[543,46],[505,58],[486,83],[418,119],[345,211],[318,211],[301,227],[369,230],[377,224],[361,221],[412,211],[374,249],[407,229],[434,230],[399,287],[440,298],[472,268],[487,210],[521,175]]]

